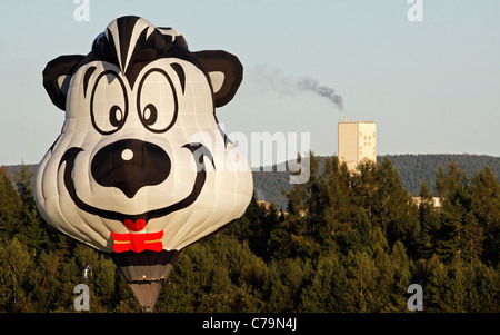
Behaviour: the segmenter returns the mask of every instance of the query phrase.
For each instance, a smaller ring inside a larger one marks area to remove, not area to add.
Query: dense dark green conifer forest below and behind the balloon
[[[187,247],[154,312],[500,312],[500,186],[450,162],[420,184],[416,205],[389,158],[356,173],[310,155],[283,213],[250,203],[220,233]],[[74,312],[92,270],[91,312],[140,312],[112,260],[50,228],[32,198],[32,170],[0,169],[0,312]],[[433,207],[432,190],[442,200]]]

